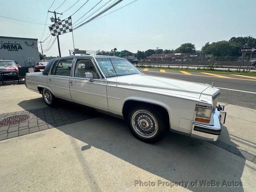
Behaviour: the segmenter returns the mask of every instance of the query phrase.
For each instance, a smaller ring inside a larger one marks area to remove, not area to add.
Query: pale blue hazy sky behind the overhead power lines
[[[0,36],[44,40],[49,35],[48,25],[51,24],[52,14],[48,14],[47,20],[46,16],[51,4],[50,10],[54,10],[64,2],[60,8],[56,9],[56,12],[61,13],[76,1],[55,0],[52,4],[53,0],[0,0],[0,16],[41,23],[31,24],[0,17]],[[64,12],[60,19],[73,14],[86,1],[79,0]],[[89,0],[78,10],[72,16],[73,25],[99,1]],[[102,0],[86,16],[90,16],[108,1]],[[105,14],[132,1],[134,0],[123,0]],[[107,5],[112,2],[114,0]],[[229,40],[233,36],[253,35],[255,37],[255,7],[255,0],[137,0],[74,30],[74,45],[80,50],[110,51],[117,48],[118,51],[137,52],[137,50],[156,49],[156,47],[175,49],[183,43],[190,42],[200,50],[206,42]],[[60,35],[59,39],[62,56],[68,56],[69,50],[73,49],[72,33]],[[47,49],[49,40],[50,38],[42,43],[43,49]],[[38,48],[40,50],[40,44]],[[44,54],[58,55],[57,40]]]

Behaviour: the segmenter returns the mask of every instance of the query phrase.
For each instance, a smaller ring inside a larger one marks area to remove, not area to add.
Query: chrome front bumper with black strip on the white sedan
[[[219,106],[216,108],[213,112],[212,118],[214,121],[213,125],[206,125],[194,121],[191,137],[208,141],[216,141],[221,133],[221,124],[224,124],[226,120],[226,112],[224,111],[224,106]]]

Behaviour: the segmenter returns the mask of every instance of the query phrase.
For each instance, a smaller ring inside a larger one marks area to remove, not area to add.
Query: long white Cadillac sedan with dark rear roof
[[[220,90],[146,75],[118,57],[55,58],[43,72],[28,73],[26,87],[48,106],[60,98],[124,118],[144,142],[159,141],[168,131],[215,141],[226,118],[224,106],[216,106]]]

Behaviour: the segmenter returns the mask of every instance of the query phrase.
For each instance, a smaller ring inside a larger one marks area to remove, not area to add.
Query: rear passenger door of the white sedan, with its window
[[[57,98],[72,101],[69,91],[69,78],[73,59],[57,60],[47,78],[47,85]]]

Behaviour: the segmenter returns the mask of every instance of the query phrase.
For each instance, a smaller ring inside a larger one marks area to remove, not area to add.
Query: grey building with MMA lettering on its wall
[[[40,61],[38,39],[0,36],[0,59],[10,59],[22,67],[32,67]]]

